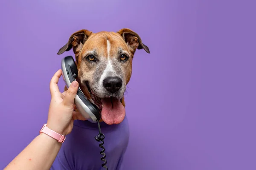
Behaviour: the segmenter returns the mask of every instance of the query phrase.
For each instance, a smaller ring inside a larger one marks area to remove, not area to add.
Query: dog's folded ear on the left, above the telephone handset
[[[92,31],[88,31],[86,29],[82,29],[80,31],[77,31],[73,33],[67,44],[61,47],[61,49],[58,51],[58,55],[64,53],[65,51],[70,51],[71,48],[73,48],[74,54],[77,56],[79,52],[81,51],[84,42],[87,40],[87,38],[92,34]]]

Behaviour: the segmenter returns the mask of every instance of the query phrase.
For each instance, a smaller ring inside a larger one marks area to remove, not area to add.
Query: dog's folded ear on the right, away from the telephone
[[[123,28],[117,31],[117,33],[119,33],[122,36],[122,38],[125,40],[126,44],[128,45],[133,54],[135,53],[136,49],[142,48],[147,53],[150,53],[147,45],[142,43],[140,36],[136,32],[128,28]]]

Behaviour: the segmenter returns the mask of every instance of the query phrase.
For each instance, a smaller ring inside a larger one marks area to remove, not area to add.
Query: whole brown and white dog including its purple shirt
[[[101,130],[108,136],[103,142],[107,167],[120,170],[129,139],[124,93],[131,78],[135,51],[144,49],[150,53],[149,48],[137,33],[123,28],[117,32],[77,31],[57,54],[71,49],[75,54],[79,87],[102,114]],[[102,161],[105,159],[101,158],[101,148],[94,139],[97,130],[97,124],[74,121],[73,130],[62,144],[51,170],[99,170],[104,167]]]

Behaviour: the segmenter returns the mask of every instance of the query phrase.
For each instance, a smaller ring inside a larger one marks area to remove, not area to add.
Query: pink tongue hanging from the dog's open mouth
[[[119,124],[125,118],[125,108],[120,100],[115,98],[102,99],[102,120],[108,124]]]

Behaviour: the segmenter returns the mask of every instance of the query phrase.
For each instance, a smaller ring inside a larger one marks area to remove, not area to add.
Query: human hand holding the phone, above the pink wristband
[[[58,80],[61,70],[58,70],[51,79],[51,102],[49,106],[47,127],[55,132],[67,135],[73,128],[76,119],[86,120],[80,112],[74,111],[74,99],[78,90],[78,82],[73,81],[67,91],[61,93],[58,88]]]

